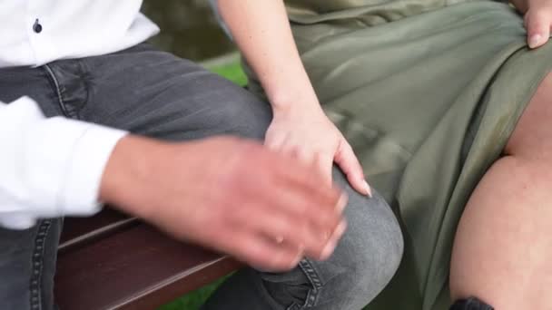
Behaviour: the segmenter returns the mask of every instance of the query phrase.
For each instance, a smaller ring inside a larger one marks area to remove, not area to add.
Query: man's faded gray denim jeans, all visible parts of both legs
[[[27,95],[47,116],[92,121],[163,140],[218,134],[262,139],[270,106],[200,66],[140,44],[98,57],[63,60],[38,68],[0,69],[0,101]],[[328,261],[309,259],[282,274],[245,268],[232,276],[204,309],[358,310],[399,266],[402,237],[378,194],[347,190],[349,230]],[[54,308],[56,247],[63,221],[43,219],[24,231],[0,229],[0,309]],[[62,309],[63,310],[63,309]]]

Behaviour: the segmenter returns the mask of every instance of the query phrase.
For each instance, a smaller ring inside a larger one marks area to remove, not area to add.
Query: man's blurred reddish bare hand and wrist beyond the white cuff
[[[174,237],[278,271],[329,257],[345,230],[346,199],[316,171],[248,140],[128,136],[100,196]]]

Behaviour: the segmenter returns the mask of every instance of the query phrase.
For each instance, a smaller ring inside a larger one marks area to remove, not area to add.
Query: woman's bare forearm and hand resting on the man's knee
[[[218,0],[217,5],[271,102],[274,118],[266,145],[315,163],[326,182],[335,161],[354,189],[370,195],[359,160],[320,108],[283,1]]]

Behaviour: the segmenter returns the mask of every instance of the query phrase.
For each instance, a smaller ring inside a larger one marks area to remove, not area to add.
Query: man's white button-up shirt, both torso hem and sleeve
[[[142,0],[0,0],[0,70],[113,53],[159,28]],[[98,207],[105,164],[126,132],[45,119],[36,102],[0,102],[0,226],[88,216]]]

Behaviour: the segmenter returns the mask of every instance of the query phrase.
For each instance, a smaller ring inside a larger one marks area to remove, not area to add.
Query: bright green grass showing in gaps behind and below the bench
[[[243,73],[242,66],[239,61],[222,64],[208,69],[213,73],[222,75],[240,86],[245,86],[247,84],[247,77],[245,76],[245,73]],[[226,278],[227,276],[210,285],[203,286],[188,295],[178,298],[170,304],[161,306],[158,310],[197,310]]]

